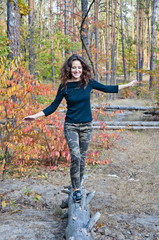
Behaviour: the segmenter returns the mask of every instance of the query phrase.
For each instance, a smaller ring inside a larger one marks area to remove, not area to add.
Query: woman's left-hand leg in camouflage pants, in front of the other
[[[74,124],[64,124],[64,134],[70,150],[71,166],[70,177],[73,189],[80,188],[80,147],[79,147],[79,130]]]

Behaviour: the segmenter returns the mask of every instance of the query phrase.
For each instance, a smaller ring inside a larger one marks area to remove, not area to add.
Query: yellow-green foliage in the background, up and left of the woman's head
[[[70,36],[65,36],[60,31],[56,32],[53,36],[54,45],[54,68],[55,78],[59,76],[60,68],[63,64],[62,52],[78,50],[80,43],[71,41]],[[51,61],[51,40],[46,38],[40,40],[39,35],[35,35],[35,42],[39,42],[40,47],[35,49],[36,61],[35,69],[37,76],[42,80],[52,79],[52,61]]]

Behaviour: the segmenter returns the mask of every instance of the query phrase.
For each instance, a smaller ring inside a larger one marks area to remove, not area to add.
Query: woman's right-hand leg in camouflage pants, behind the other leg
[[[87,151],[92,139],[92,135],[93,135],[92,123],[83,124],[83,126],[80,128],[80,133],[79,133],[79,145],[80,145],[80,155],[81,155],[80,182],[82,181],[82,178],[84,175],[85,159],[86,159]]]

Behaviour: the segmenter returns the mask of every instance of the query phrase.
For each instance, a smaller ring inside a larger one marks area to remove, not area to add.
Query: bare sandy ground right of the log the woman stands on
[[[106,157],[113,163],[89,170],[100,211],[97,239],[159,239],[159,132],[123,132]]]

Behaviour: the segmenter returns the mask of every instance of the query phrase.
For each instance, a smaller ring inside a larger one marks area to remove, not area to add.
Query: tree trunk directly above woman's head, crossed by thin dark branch
[[[82,18],[83,18],[88,11],[88,0],[81,0],[81,8],[82,8]],[[88,38],[88,21],[87,21],[87,19],[85,20],[85,23],[82,28],[82,38],[88,49],[89,38]],[[84,57],[86,56],[85,47],[84,47],[83,43],[82,43],[82,56],[84,56]]]

